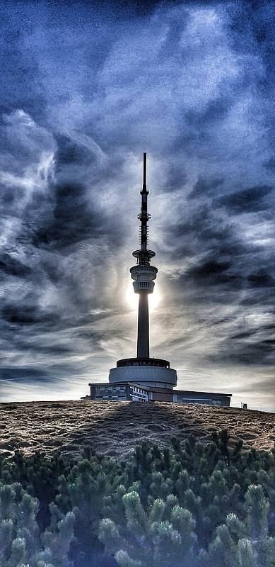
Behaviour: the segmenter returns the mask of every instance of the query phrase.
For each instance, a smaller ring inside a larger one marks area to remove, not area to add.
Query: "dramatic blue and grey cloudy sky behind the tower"
[[[147,151],[151,354],[275,409],[274,23],[264,0],[1,6],[1,400],[79,398],[135,355]]]

